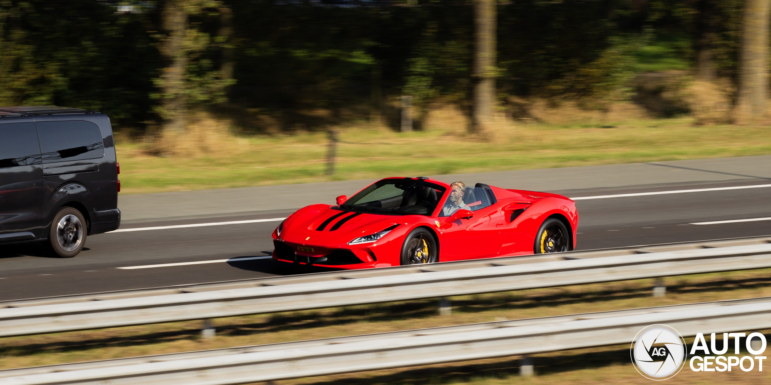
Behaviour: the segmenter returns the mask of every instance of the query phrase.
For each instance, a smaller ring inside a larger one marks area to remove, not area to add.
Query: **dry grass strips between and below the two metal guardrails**
[[[215,320],[217,337],[201,340],[200,322],[130,326],[107,330],[54,333],[0,339],[0,369],[148,354],[278,343],[332,336],[409,330],[569,313],[661,306],[712,300],[771,296],[771,269],[711,273],[665,279],[668,293],[652,297],[653,280],[522,290],[453,298],[453,313],[440,316],[436,300],[240,316]],[[631,338],[631,336],[630,336]],[[629,362],[628,346],[537,354],[537,376],[517,375],[517,357],[377,370],[277,381],[276,385],[436,384],[436,383],[648,383]],[[687,369],[687,368],[686,368]],[[678,383],[761,383],[763,373],[692,373],[682,370]]]

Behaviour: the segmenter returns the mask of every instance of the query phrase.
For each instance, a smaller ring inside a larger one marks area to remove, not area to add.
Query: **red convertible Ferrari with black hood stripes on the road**
[[[575,203],[548,192],[385,178],[306,206],[273,232],[273,258],[342,269],[570,251]]]

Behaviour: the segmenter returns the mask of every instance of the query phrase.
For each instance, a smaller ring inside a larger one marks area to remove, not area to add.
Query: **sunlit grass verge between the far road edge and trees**
[[[467,136],[463,117],[452,114],[419,132],[340,127],[345,143],[338,145],[334,176],[324,175],[328,139],[321,132],[237,137],[214,135],[227,132],[214,123],[174,143],[182,155],[166,157],[147,155],[146,146],[119,135],[121,193],[771,154],[771,130],[761,125],[565,118],[577,122],[500,123],[488,141]]]

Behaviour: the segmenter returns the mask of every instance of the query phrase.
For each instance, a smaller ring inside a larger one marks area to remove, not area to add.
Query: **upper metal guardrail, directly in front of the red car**
[[[494,260],[487,263],[494,266],[436,271],[441,269],[441,264],[436,264],[425,266],[424,271],[428,271],[424,273],[361,276],[366,279],[8,307],[0,309],[0,336],[761,269],[771,267],[771,244],[599,256],[520,265],[507,265]]]

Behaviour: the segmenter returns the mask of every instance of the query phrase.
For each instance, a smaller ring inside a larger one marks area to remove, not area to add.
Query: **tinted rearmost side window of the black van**
[[[94,159],[104,156],[99,126],[83,120],[37,122],[42,162]]]

